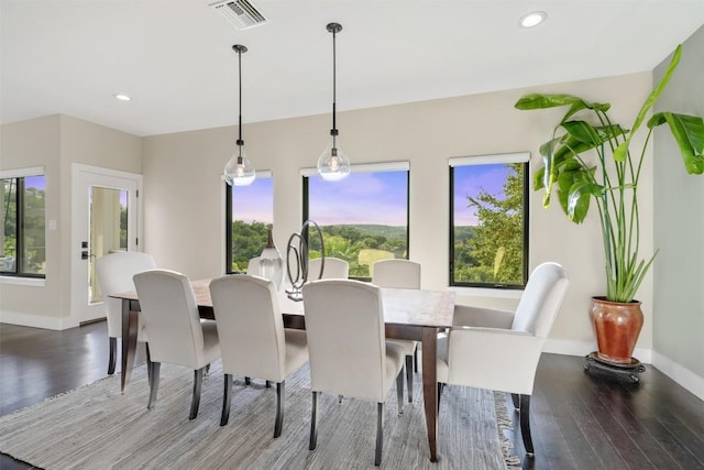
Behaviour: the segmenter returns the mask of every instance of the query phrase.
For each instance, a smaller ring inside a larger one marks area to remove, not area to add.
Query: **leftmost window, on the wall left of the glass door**
[[[44,168],[0,172],[2,253],[0,274],[44,277],[46,273]]]

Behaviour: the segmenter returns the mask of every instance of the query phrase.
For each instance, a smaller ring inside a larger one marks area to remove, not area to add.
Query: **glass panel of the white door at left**
[[[88,263],[89,300],[102,300],[96,278],[96,260],[105,254],[128,250],[128,190],[90,186],[90,255]]]

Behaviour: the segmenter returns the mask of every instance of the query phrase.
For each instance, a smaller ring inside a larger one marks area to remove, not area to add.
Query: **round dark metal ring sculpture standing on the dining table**
[[[322,272],[326,267],[326,247],[322,241],[322,231],[320,231],[318,223],[312,220],[306,220],[299,233],[290,234],[288,238],[288,247],[286,248],[286,271],[288,281],[290,282],[290,288],[286,289],[286,294],[288,294],[288,298],[296,302],[304,299],[302,287],[304,284],[308,282],[309,253],[306,238],[315,236],[315,233],[309,233],[311,227],[315,229],[315,232],[317,232],[318,241],[320,242],[320,270],[316,278],[319,280],[322,277]],[[296,267],[295,273],[292,272],[292,266]]]

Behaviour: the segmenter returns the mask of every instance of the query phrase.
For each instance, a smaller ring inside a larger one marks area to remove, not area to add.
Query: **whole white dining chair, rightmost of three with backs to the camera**
[[[304,285],[312,408],[310,444],[318,441],[318,394],[376,402],[376,451],[382,461],[384,402],[396,379],[403,413],[403,349],[386,341],[380,288],[360,281],[320,280]]]

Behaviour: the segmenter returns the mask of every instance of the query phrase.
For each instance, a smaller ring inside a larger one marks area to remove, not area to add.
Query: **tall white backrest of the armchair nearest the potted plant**
[[[547,338],[569,283],[568,273],[560,264],[548,262],[537,266],[520,297],[512,329]]]

